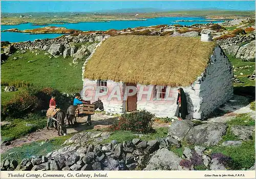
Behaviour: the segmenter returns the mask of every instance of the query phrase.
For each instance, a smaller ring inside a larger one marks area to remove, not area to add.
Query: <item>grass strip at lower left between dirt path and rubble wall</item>
[[[72,134],[74,135],[74,133]],[[20,147],[14,147],[5,153],[2,153],[1,160],[7,158],[9,160],[16,160],[20,163],[24,158],[31,158],[33,155],[46,155],[47,153],[60,149],[67,139],[71,138],[71,134],[51,139],[49,142],[37,141],[30,144],[24,144]]]

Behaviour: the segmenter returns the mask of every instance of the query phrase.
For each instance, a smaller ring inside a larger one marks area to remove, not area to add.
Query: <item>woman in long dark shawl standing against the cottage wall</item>
[[[186,119],[187,112],[187,100],[186,95],[182,88],[178,89],[178,99],[177,99],[177,109],[175,116],[178,117],[178,120]]]

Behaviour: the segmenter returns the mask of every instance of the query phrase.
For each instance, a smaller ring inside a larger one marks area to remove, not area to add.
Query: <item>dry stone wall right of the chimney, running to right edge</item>
[[[226,50],[229,46],[234,46],[243,42],[250,42],[252,40],[255,40],[255,34],[247,34],[243,36],[237,35],[227,39],[216,40],[216,42],[219,44],[219,46],[221,46],[223,50]]]

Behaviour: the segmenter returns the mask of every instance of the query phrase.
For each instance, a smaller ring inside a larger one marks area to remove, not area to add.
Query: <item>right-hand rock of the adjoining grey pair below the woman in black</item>
[[[207,123],[192,127],[185,137],[185,141],[192,145],[217,145],[225,135],[227,125],[223,123]]]

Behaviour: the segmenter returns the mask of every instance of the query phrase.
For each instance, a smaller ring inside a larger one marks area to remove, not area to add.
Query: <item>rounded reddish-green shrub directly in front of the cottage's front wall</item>
[[[121,115],[118,122],[110,127],[110,130],[129,130],[138,133],[155,132],[152,127],[154,118],[155,115],[146,110],[124,113]]]

